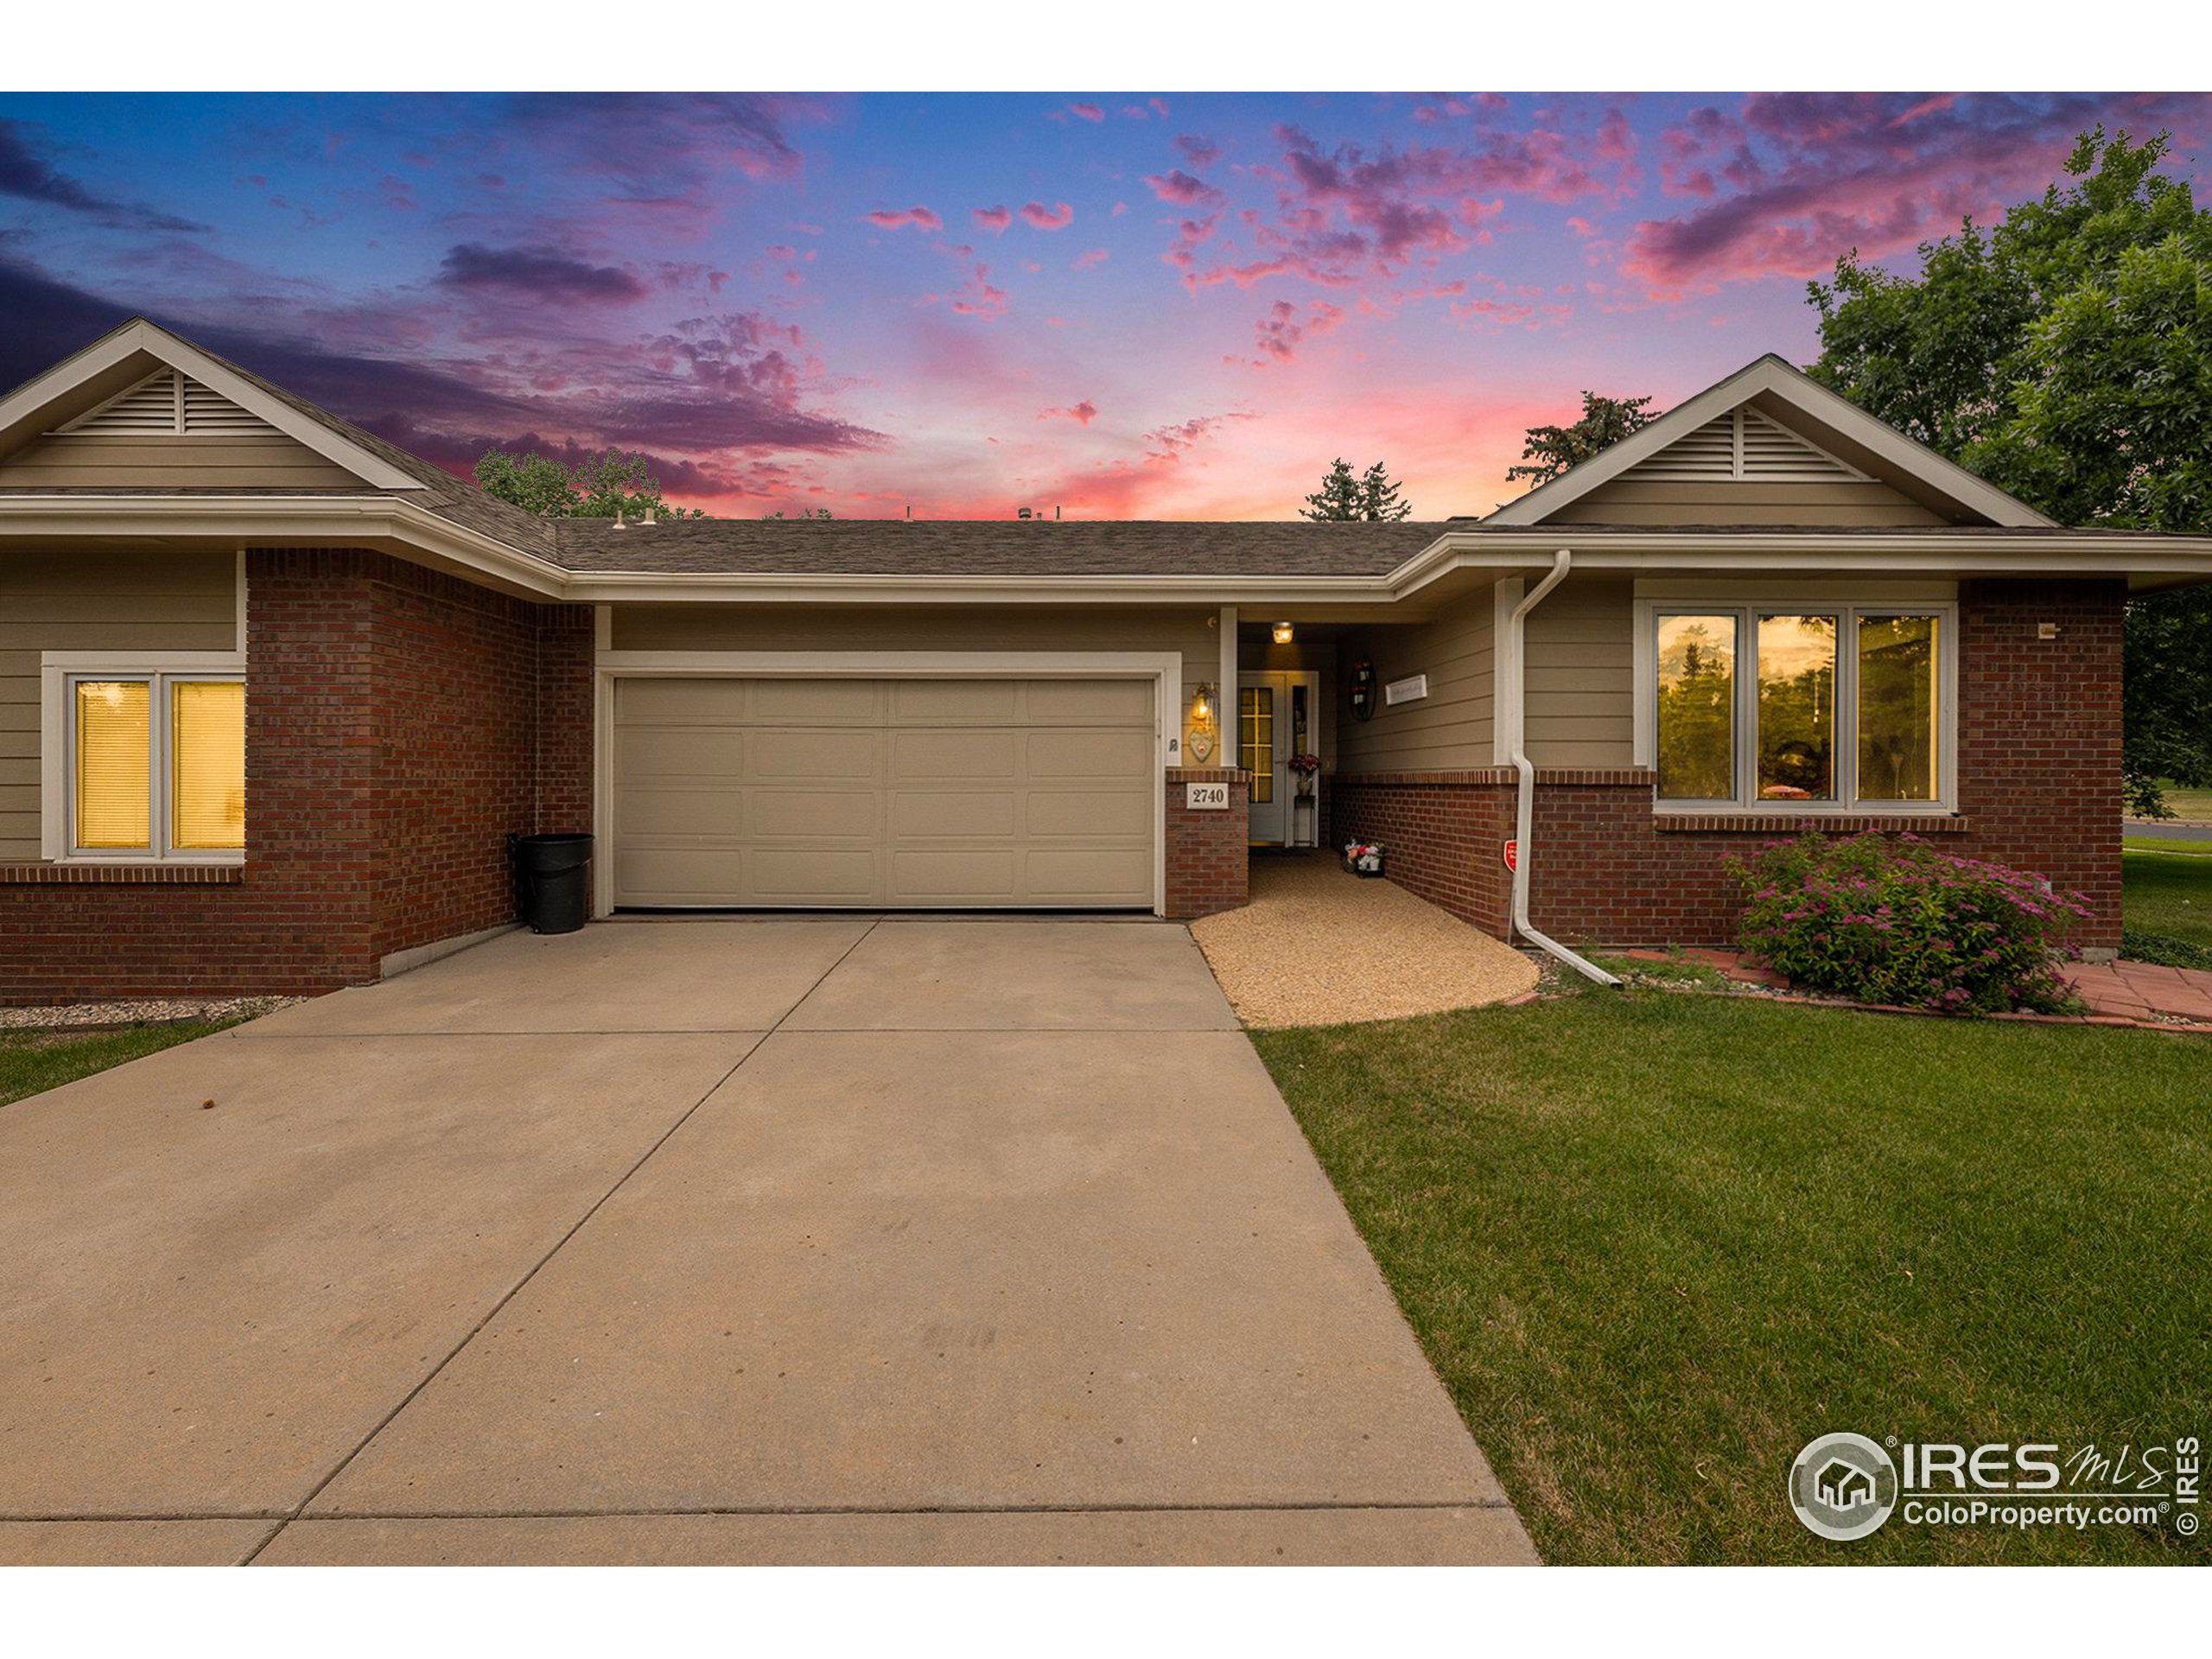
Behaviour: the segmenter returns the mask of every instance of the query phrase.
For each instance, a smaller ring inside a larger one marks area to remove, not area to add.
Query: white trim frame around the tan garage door
[[[1234,635],[1232,635],[1234,639]],[[1168,732],[1181,739],[1179,650],[602,650],[591,710],[591,914],[615,914],[615,681],[657,679],[1150,679],[1152,914],[1168,911]]]

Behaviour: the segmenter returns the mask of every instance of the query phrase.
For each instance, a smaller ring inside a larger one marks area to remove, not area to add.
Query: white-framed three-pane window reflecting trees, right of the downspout
[[[1949,812],[1951,599],[1637,599],[1637,761],[1672,812]]]

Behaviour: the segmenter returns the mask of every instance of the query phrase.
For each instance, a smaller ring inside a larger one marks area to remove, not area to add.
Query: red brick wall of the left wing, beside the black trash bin
[[[246,630],[243,869],[0,869],[0,1002],[358,984],[513,920],[509,832],[591,827],[588,611],[254,551]]]

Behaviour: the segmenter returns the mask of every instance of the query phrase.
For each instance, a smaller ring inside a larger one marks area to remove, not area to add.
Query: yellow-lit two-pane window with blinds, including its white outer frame
[[[40,675],[46,858],[246,858],[239,653],[49,650]]]

